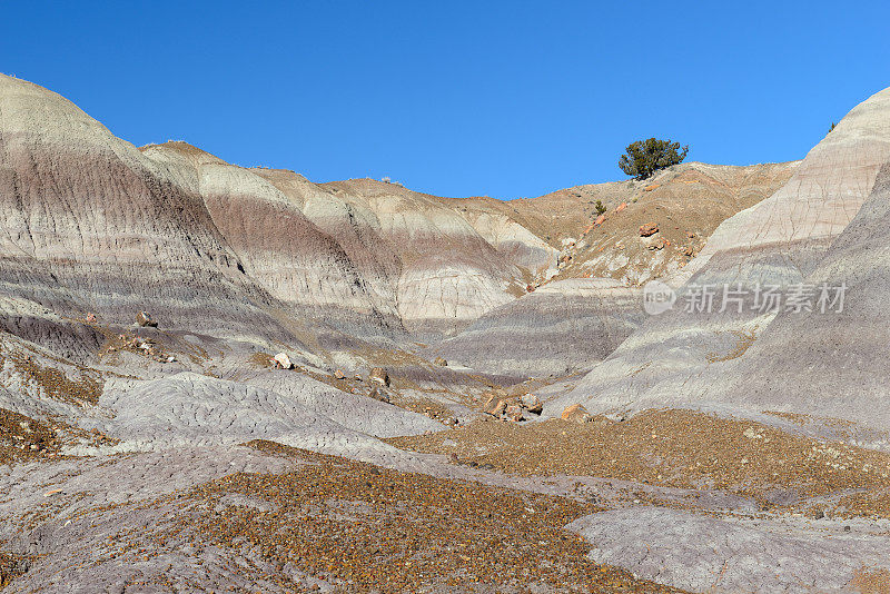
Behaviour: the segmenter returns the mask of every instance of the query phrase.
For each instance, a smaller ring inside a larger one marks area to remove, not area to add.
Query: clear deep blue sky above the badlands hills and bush
[[[890,86],[890,2],[0,0],[0,71],[136,145],[442,196],[802,158]]]

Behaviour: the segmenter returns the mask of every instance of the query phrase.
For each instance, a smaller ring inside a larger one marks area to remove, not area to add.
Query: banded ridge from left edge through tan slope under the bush
[[[634,286],[675,270],[795,166],[689,164],[654,191],[586,186],[568,190],[584,197],[574,201],[454,200],[369,179],[314,184],[185,142],[137,149],[55,93],[2,85],[4,324],[91,354],[100,338],[75,338],[88,330],[66,318],[128,324],[148,310],[168,329],[279,341],[298,358],[435,341],[554,277]],[[601,225],[595,199],[610,208]],[[662,215],[665,238],[695,239],[647,249],[636,228]],[[627,261],[605,270],[603,255]]]

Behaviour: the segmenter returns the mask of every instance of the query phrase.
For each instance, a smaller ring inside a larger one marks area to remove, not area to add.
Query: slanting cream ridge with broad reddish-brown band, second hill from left
[[[178,166],[204,198],[240,269],[291,314],[324,318],[358,336],[393,336],[400,329],[375,270],[354,260],[355,253],[347,253],[264,176],[182,142],[142,150],[152,160]]]

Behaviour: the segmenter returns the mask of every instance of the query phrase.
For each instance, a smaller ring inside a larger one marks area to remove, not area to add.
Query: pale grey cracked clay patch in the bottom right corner
[[[846,592],[863,565],[890,567],[888,523],[720,518],[659,507],[568,525],[596,563],[693,592]],[[868,532],[867,532],[868,531]],[[879,534],[883,532],[883,534]]]

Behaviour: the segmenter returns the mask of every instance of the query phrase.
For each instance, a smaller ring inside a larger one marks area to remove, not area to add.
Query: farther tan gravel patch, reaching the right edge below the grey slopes
[[[770,506],[844,489],[890,487],[890,456],[840,442],[809,439],[751,420],[688,410],[649,410],[615,423],[474,423],[397,437],[404,449],[456,454],[523,476],[597,476],[672,487],[712,488]]]

